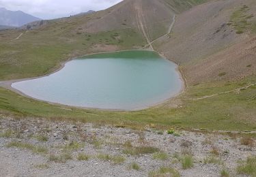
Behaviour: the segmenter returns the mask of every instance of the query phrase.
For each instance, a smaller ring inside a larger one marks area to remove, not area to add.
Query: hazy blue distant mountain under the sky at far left
[[[0,25],[21,27],[29,22],[41,20],[22,11],[11,11],[0,7]]]

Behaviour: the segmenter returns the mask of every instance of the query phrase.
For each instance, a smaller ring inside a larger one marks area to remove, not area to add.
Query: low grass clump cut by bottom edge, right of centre
[[[160,167],[159,170],[150,172],[150,177],[158,177],[158,176],[172,176],[172,177],[180,177],[180,173],[175,170],[173,167]]]

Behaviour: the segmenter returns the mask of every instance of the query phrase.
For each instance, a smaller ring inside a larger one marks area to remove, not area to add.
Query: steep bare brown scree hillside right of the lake
[[[154,46],[181,65],[189,84],[251,76],[256,73],[255,12],[252,0],[198,5],[177,16],[172,33]]]

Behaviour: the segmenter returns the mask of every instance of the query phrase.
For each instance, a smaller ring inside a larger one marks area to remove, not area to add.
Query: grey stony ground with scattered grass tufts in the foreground
[[[248,135],[167,132],[1,116],[0,176],[246,176],[256,156]]]

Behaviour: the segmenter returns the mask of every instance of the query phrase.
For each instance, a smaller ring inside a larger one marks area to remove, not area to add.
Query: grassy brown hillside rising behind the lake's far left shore
[[[126,0],[100,12],[2,31],[0,79],[46,74],[61,61],[91,52],[139,49],[167,33],[174,13],[201,1],[182,2]]]

